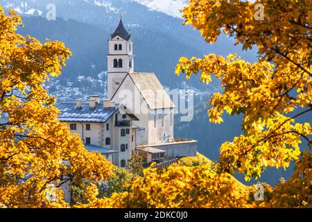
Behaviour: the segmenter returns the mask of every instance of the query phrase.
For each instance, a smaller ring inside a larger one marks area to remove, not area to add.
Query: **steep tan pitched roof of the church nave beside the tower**
[[[130,73],[127,76],[130,76],[132,79],[132,82],[135,84],[141,96],[148,104],[148,108],[152,110],[175,108],[175,104],[173,104],[173,101],[171,101],[166,90],[162,86],[162,83],[159,82],[154,73],[135,72]],[[127,76],[125,78],[127,78]],[[123,82],[119,85],[119,88],[121,85],[123,85]],[[113,99],[118,91],[119,89],[117,89],[115,94],[112,96]]]

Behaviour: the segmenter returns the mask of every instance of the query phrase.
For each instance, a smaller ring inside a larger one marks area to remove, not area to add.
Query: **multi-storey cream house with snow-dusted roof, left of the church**
[[[90,96],[89,103],[62,103],[60,121],[71,133],[77,133],[88,151],[97,151],[116,166],[125,167],[134,150],[132,121],[138,120],[129,110],[113,101],[101,103]]]

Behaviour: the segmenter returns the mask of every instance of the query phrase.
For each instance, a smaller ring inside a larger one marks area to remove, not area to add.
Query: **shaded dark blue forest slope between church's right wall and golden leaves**
[[[218,160],[220,146],[226,142],[232,142],[234,137],[243,133],[241,129],[241,116],[225,114],[224,122],[219,124],[209,122],[207,110],[209,110],[209,97],[206,99],[196,99],[194,104],[194,118],[191,122],[181,122],[180,116],[175,117],[175,136],[180,138],[193,138],[198,141],[198,152],[202,153],[212,161]],[[307,114],[298,118],[298,122],[311,122],[312,114]],[[191,130],[190,130],[191,129]],[[302,149],[307,148],[306,142],[301,145]],[[284,169],[268,169],[263,173],[259,181],[268,182],[275,185],[280,178],[288,179],[293,174],[294,164],[291,164],[286,171]],[[246,182],[243,175],[236,175],[241,182],[251,185],[255,180]]]

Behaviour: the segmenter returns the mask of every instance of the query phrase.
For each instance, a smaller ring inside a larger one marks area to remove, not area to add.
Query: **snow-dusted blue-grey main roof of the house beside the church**
[[[60,121],[105,123],[119,110],[119,105],[114,108],[104,108],[103,104],[97,103],[95,108],[89,108],[89,103],[83,103],[81,108],[77,108],[76,103],[61,103],[58,109],[61,112],[58,117]]]

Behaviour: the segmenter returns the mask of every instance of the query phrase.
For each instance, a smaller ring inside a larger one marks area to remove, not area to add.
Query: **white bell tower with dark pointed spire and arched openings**
[[[107,99],[112,99],[123,78],[133,72],[132,42],[132,36],[125,30],[120,15],[119,25],[108,40]]]

